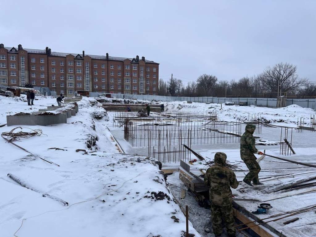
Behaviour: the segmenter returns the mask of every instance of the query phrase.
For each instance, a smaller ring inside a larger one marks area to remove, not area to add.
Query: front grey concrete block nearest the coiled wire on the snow
[[[38,112],[37,112],[38,113]],[[38,115],[36,112],[23,115],[7,115],[7,126],[12,125],[40,125],[67,123],[67,114]]]

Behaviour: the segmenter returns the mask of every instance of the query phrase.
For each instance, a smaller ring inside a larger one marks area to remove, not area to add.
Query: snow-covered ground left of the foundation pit
[[[78,102],[79,112],[67,124],[24,125],[43,131],[39,137],[15,142],[32,154],[2,139],[1,237],[183,235],[185,216],[155,160],[120,154],[106,128],[112,122],[95,102],[94,98],[83,98]],[[54,98],[42,97],[34,104],[27,106],[22,97],[0,97],[0,125],[6,123],[6,115],[38,111],[57,103]],[[95,119],[98,116],[93,113],[103,113],[104,117]],[[1,127],[0,132],[14,127]],[[33,190],[18,185],[8,173]],[[200,236],[191,223],[189,232]]]

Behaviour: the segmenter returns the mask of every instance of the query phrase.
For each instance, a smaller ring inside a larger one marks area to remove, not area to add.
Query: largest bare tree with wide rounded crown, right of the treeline
[[[271,92],[297,92],[306,83],[306,79],[299,78],[296,66],[289,63],[266,67],[261,78],[264,89]]]

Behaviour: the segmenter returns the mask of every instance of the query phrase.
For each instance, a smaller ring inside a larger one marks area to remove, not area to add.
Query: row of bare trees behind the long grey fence
[[[289,63],[268,66],[262,73],[242,77],[238,81],[219,81],[216,76],[207,74],[186,85],[178,78],[159,81],[159,95],[275,98],[284,94],[297,97],[316,96],[316,83],[299,77],[297,67]]]

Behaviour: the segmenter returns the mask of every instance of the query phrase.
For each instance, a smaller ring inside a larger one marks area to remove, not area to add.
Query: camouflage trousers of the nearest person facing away
[[[232,205],[228,206],[218,206],[211,205],[211,215],[212,215],[212,227],[213,233],[216,235],[222,234],[222,219],[225,222],[225,227],[228,235],[236,234],[236,229],[234,226],[235,220],[233,216],[233,207]]]

